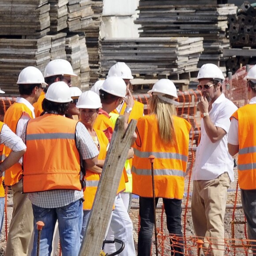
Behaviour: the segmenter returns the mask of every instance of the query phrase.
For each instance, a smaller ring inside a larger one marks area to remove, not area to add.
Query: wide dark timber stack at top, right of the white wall
[[[226,72],[223,48],[230,46],[227,38],[228,19],[237,11],[233,4],[217,4],[212,0],[140,0],[140,37],[203,37],[204,51],[198,68],[211,62]]]

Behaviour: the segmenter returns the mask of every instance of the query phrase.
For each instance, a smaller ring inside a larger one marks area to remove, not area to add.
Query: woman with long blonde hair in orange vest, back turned
[[[150,155],[155,156],[155,205],[162,197],[169,233],[182,237],[181,200],[191,129],[186,120],[176,116],[177,89],[173,82],[160,79],[149,93],[151,114],[138,120],[132,162],[132,193],[139,195],[138,256],[151,255],[154,207],[151,163],[148,160]],[[173,245],[171,248],[172,255],[183,255],[183,245]]]

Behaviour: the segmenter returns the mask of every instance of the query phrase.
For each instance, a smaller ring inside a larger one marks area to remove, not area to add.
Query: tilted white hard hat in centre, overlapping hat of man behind
[[[101,90],[104,90],[109,94],[124,98],[126,95],[126,84],[120,77],[110,76],[102,84]]]

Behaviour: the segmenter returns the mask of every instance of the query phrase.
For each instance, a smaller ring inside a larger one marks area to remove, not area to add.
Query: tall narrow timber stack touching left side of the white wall
[[[86,45],[89,54],[90,84],[95,83],[100,75],[100,50],[101,42],[99,38],[100,25],[102,23],[103,0],[92,0],[91,8],[94,12],[93,22],[83,29],[86,33]]]

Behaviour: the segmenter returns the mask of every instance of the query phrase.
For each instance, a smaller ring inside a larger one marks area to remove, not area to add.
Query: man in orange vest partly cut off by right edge
[[[256,252],[256,65],[245,76],[249,104],[239,108],[231,117],[228,148],[238,153],[238,183],[248,226],[252,250]]]

